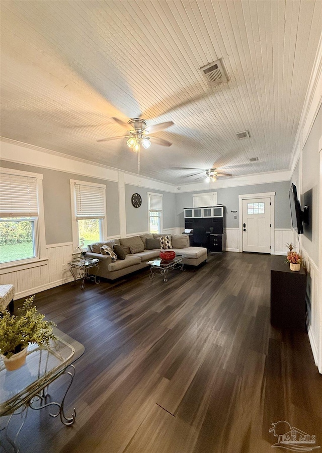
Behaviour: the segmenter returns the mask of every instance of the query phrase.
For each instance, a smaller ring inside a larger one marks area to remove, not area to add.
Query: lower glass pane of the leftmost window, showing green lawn
[[[0,262],[26,260],[35,256],[34,219],[1,219]]]

